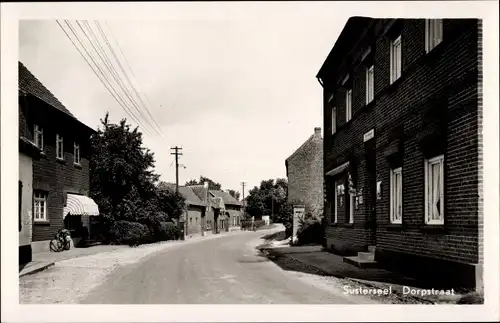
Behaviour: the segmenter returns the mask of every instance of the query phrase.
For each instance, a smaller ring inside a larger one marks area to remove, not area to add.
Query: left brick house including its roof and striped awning
[[[19,136],[40,151],[32,161],[31,246],[33,252],[48,251],[57,230],[70,230],[77,243],[89,229],[89,217],[99,213],[88,197],[94,130],[76,119],[20,62],[18,71]],[[26,161],[20,166],[30,168]],[[23,177],[29,177],[26,174]]]

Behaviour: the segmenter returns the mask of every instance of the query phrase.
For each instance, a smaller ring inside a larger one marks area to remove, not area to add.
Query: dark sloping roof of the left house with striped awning
[[[19,90],[36,96],[57,110],[75,118],[75,116],[69,112],[69,110],[21,62],[19,62],[18,84]]]

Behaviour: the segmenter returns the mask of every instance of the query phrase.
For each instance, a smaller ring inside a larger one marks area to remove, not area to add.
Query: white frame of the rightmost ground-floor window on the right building
[[[432,192],[432,183],[433,183],[433,178],[432,178],[432,172],[430,171],[432,169],[432,165],[440,165],[440,173],[439,173],[439,214],[440,218],[439,219],[430,219],[430,208],[431,208],[431,200],[429,199],[429,194]],[[424,180],[424,185],[425,185],[425,224],[429,225],[443,225],[444,224],[444,155],[439,155],[431,159],[427,159],[424,162],[424,168],[425,168],[425,180]]]

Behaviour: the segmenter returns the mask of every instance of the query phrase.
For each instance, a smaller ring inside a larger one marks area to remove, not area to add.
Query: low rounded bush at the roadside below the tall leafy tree
[[[150,239],[149,228],[138,222],[117,221],[110,226],[109,240],[112,244],[137,246]]]

